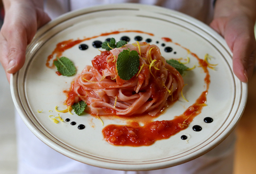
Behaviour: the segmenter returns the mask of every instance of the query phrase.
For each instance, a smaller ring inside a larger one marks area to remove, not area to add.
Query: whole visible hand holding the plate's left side
[[[25,63],[26,48],[38,28],[51,19],[42,10],[41,0],[5,0],[4,24],[0,31],[0,62],[7,80]]]

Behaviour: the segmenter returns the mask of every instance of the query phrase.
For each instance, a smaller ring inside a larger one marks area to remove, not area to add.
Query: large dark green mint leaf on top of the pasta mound
[[[137,51],[124,49],[119,53],[116,64],[120,79],[130,80],[139,71],[139,54]]]

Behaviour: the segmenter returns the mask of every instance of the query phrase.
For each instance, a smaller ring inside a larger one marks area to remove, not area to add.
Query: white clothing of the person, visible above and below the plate
[[[110,3],[141,3],[158,5],[186,13],[209,24],[213,0],[47,0],[44,10],[54,19],[71,10]],[[207,174],[233,172],[235,134],[203,156],[179,166],[152,171],[119,171],[102,169],[72,160],[40,141],[16,114],[19,174]]]

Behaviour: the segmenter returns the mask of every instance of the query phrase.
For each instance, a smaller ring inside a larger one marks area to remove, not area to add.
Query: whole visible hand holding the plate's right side
[[[217,0],[210,24],[233,52],[233,71],[242,82],[248,81],[255,65],[255,20],[255,0]]]

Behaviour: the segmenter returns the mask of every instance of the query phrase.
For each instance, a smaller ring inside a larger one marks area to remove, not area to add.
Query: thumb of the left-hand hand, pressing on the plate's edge
[[[33,39],[37,28],[40,28],[51,19],[39,8],[27,4],[15,5],[6,13],[3,25],[3,36],[7,43],[5,66],[7,73],[17,72],[25,63],[27,45]]]

